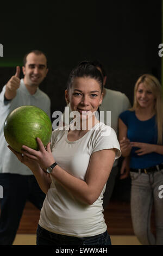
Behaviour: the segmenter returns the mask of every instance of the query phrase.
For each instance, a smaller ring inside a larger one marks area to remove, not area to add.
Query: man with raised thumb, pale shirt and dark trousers
[[[22,79],[20,71],[20,66],[17,66],[15,75],[0,94],[0,185],[3,187],[3,198],[0,199],[0,245],[12,245],[26,201],[30,200],[41,209],[45,199],[33,173],[8,149],[3,134],[5,119],[17,107],[33,105],[51,117],[49,97],[39,89],[48,72],[45,54],[38,50],[27,53],[23,59]]]

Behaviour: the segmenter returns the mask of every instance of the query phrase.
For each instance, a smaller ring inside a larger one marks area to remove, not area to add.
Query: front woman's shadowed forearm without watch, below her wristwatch
[[[51,178],[48,173],[43,172],[42,168],[39,166],[37,169],[32,169],[32,172],[39,184],[41,190],[46,194],[51,185]]]

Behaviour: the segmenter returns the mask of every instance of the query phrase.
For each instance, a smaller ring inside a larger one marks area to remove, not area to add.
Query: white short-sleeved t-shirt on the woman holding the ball
[[[68,141],[68,126],[65,130],[56,129],[52,133],[52,152],[58,165],[76,178],[85,180],[92,153],[103,150],[116,150],[120,157],[120,144],[115,131],[104,123],[96,124],[77,141]],[[103,233],[106,224],[103,216],[103,193],[92,205],[79,200],[66,190],[51,175],[52,183],[41,209],[39,225],[53,233],[85,237]]]

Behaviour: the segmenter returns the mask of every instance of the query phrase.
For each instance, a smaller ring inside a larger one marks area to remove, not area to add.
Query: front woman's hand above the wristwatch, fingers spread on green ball
[[[37,161],[43,169],[51,166],[55,160],[51,151],[51,142],[46,146],[46,149],[40,138],[36,138],[39,145],[39,151],[28,148],[27,146],[22,146],[22,153],[28,156],[30,159]]]

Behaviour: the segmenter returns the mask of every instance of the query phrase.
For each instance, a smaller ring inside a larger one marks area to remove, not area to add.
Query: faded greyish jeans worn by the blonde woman
[[[134,233],[142,245],[163,245],[163,170],[145,173],[130,172],[131,218]],[[151,232],[151,210],[154,203],[156,237]]]

